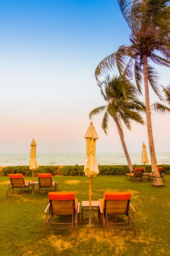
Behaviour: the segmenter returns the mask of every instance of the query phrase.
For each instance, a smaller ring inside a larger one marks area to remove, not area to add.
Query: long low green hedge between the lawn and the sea
[[[158,167],[163,167],[164,174],[170,174],[170,165],[164,164],[159,165]],[[136,167],[143,167],[143,165],[133,165],[133,169]],[[37,173],[51,173],[52,175],[56,174],[57,171],[62,172],[63,176],[78,176],[85,175],[84,166],[63,166],[59,169],[59,166],[39,166],[39,169],[34,171],[34,176],[37,176]],[[125,175],[129,172],[127,165],[121,166],[102,166],[99,165],[99,175]],[[145,166],[145,172],[151,172],[151,165]],[[3,168],[3,175],[8,174],[19,174],[22,173],[25,176],[32,176],[32,171],[29,170],[29,166],[8,166]]]

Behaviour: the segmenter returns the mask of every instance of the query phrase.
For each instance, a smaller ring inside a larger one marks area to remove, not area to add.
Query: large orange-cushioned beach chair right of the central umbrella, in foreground
[[[103,216],[103,236],[105,238],[105,224],[110,229],[124,229],[130,228],[133,224],[134,236],[135,231],[135,220],[134,213],[135,209],[130,204],[131,192],[105,192],[104,199],[99,199],[99,221],[101,222],[101,215]],[[130,209],[132,210],[132,216],[130,215]],[[127,222],[108,222],[109,219],[116,215],[126,215]],[[121,227],[119,226],[121,224]],[[113,227],[116,225],[116,227]],[[117,227],[119,226],[119,227]]]

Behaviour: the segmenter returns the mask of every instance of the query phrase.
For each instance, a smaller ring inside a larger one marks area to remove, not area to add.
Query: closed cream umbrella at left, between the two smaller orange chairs
[[[38,169],[38,164],[36,160],[36,142],[34,139],[31,142],[29,169],[32,170],[32,193],[34,193],[34,170]]]

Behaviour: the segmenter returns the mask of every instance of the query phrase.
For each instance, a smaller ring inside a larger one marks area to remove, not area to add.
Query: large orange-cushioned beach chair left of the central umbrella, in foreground
[[[45,238],[47,225],[51,229],[70,229],[75,224],[76,226],[76,238],[77,238],[77,219],[79,218],[80,203],[75,199],[75,192],[49,192],[48,193],[49,204],[45,209],[46,221],[45,221]],[[49,209],[49,215],[48,215]],[[71,222],[59,223],[51,222],[53,216],[71,216]],[[75,216],[75,218],[74,218]],[[78,217],[78,218],[77,218]],[[55,227],[52,227],[55,226]],[[62,227],[61,227],[62,226]]]

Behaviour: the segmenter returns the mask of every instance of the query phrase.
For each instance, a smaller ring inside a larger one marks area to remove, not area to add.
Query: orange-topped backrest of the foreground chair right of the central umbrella
[[[131,192],[105,192],[104,209],[108,215],[127,214],[130,203]]]

